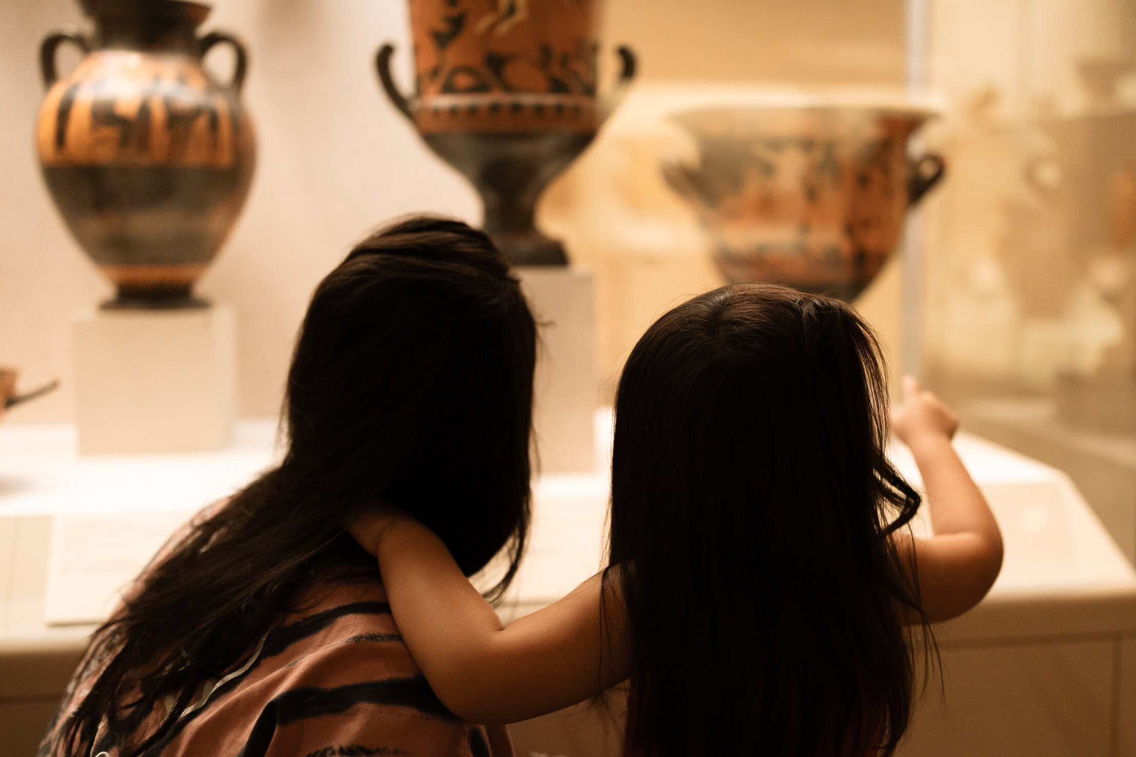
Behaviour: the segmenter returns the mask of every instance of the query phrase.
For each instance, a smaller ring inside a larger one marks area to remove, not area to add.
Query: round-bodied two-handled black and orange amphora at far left
[[[240,101],[244,45],[197,35],[209,7],[183,0],[81,0],[91,36],[51,34],[36,148],[67,227],[118,293],[103,308],[204,304],[193,283],[244,204],[256,144]],[[64,42],[86,57],[56,73]],[[215,44],[236,53],[233,79],[201,65]]]

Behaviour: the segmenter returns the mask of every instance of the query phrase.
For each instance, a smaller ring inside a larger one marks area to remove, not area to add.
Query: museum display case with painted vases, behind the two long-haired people
[[[0,11],[0,364],[20,368],[19,392],[0,369],[0,757],[34,751],[123,583],[279,455],[316,283],[419,211],[508,247],[542,329],[546,454],[506,622],[601,566],[610,404],[644,329],[726,281],[791,284],[851,301],[892,378],[957,409],[1005,539],[991,595],[938,631],[943,679],[899,754],[1136,755],[1130,0],[212,0],[233,36],[197,36],[203,6],[160,0],[181,68],[94,40],[114,24],[83,9],[132,2]],[[156,187],[192,208],[139,210]],[[150,236],[122,244],[132,229]],[[110,237],[134,256],[108,258]],[[80,334],[140,310],[181,330],[115,337],[117,368]],[[157,359],[181,382],[154,381]],[[136,415],[84,401],[95,363]],[[185,397],[212,387],[224,434],[87,454],[84,422],[144,429],[159,384],[198,426]],[[513,737],[521,756],[620,754],[595,708]]]

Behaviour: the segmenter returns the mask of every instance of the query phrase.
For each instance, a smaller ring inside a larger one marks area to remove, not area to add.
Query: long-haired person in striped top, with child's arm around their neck
[[[470,575],[529,523],[535,327],[481,232],[416,218],[319,284],[289,371],[279,465],[207,510],[94,634],[41,755],[511,757],[438,703],[374,561],[374,503]]]

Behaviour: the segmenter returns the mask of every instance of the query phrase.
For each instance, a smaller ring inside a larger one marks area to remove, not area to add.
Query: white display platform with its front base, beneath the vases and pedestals
[[[610,411],[595,420],[605,459]],[[112,595],[161,531],[272,462],[274,431],[270,421],[242,422],[235,443],[210,454],[81,457],[70,427],[0,427],[0,732],[42,730],[28,713],[50,717],[91,629],[48,624],[80,605],[68,599],[68,566],[89,561],[102,588],[84,592]],[[900,754],[1136,756],[1136,573],[1063,473],[972,436],[955,447],[1002,527],[1005,562],[978,607],[937,626],[945,699],[933,682]],[[905,451],[892,455],[918,483]],[[602,560],[604,468],[546,474],[534,493],[529,553],[499,611],[506,621],[559,598]],[[105,528],[123,513],[149,544],[117,552],[80,538],[93,533],[90,519]],[[518,755],[600,757],[608,752],[570,745],[601,721],[577,707],[518,724]]]

